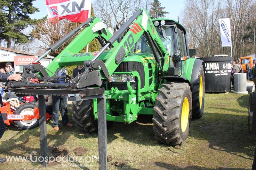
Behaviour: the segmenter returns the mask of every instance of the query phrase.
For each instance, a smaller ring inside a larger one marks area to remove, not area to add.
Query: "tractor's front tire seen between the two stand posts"
[[[72,103],[73,121],[75,126],[85,132],[97,129],[97,120],[94,120],[92,100],[81,100]]]

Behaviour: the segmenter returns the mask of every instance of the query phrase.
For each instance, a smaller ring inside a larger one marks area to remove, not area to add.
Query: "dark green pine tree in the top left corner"
[[[11,47],[11,41],[15,43],[28,42],[28,36],[22,31],[34,23],[29,17],[39,11],[32,6],[35,0],[1,0],[0,1],[0,40],[7,41],[7,48]]]

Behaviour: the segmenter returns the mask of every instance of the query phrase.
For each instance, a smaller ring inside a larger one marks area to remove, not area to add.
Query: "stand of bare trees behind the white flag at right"
[[[256,23],[255,0],[186,0],[182,23],[188,32],[190,47],[197,55],[209,57],[228,54],[229,47],[222,47],[219,18],[230,18],[234,59],[253,52],[253,24]]]

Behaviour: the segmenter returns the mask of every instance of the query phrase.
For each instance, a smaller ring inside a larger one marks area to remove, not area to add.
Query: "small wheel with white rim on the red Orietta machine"
[[[34,108],[37,107],[35,103],[26,103],[23,105],[20,105],[14,112],[15,115],[33,115]],[[33,129],[37,126],[39,126],[39,119],[32,119],[32,120],[17,120],[14,121],[15,126],[20,130],[26,130],[26,129]]]

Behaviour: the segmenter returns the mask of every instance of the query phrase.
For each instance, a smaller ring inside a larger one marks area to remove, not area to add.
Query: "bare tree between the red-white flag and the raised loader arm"
[[[101,18],[108,28],[116,32],[138,9],[150,9],[151,0],[96,0],[93,4],[95,16]]]

